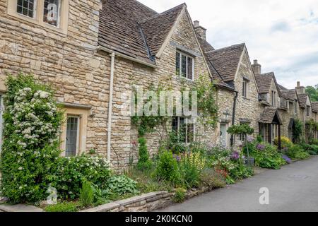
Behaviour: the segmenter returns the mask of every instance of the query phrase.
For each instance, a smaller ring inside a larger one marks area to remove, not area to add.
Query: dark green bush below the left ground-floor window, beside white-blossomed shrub
[[[85,180],[105,189],[111,171],[102,157],[81,155],[60,157],[56,160],[49,182],[58,191],[59,198],[78,198]]]

